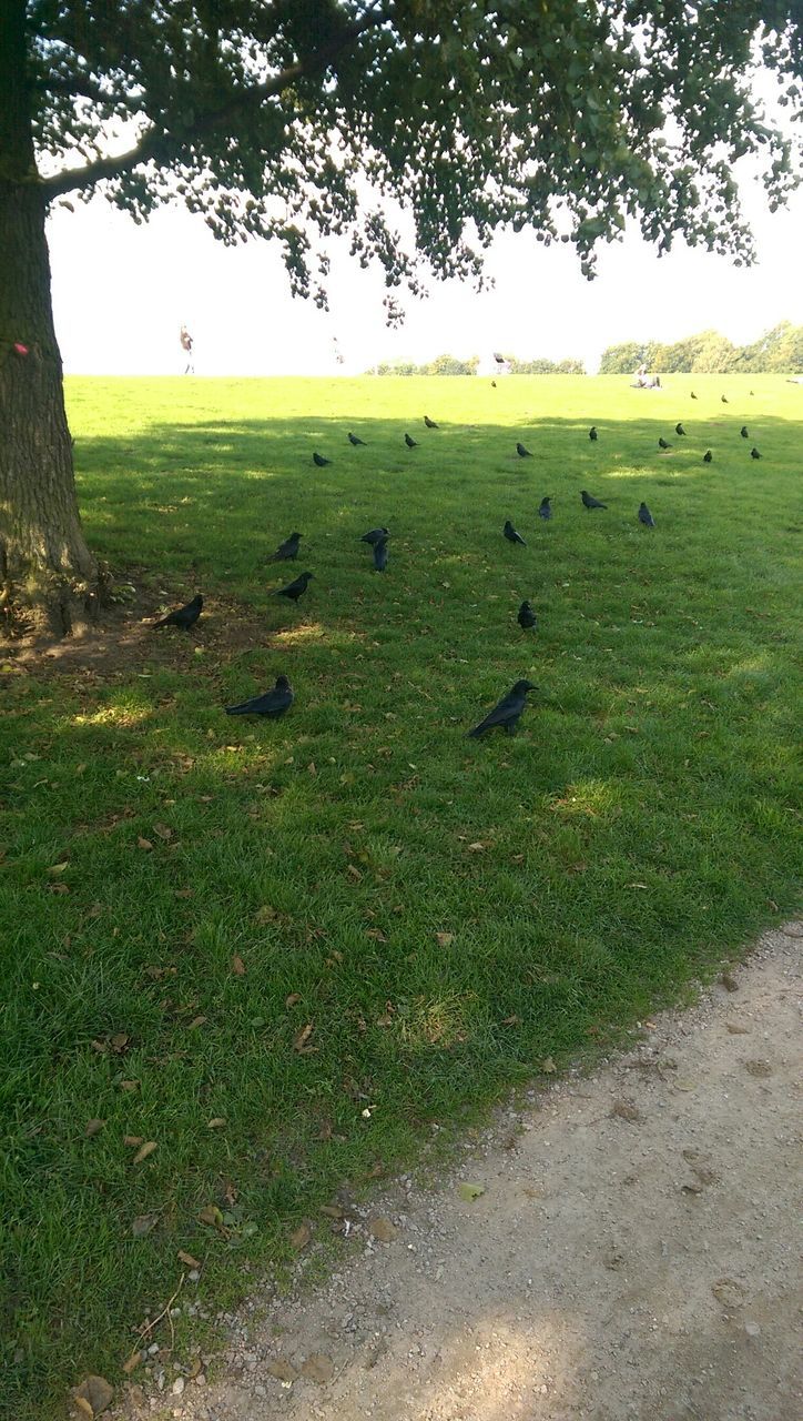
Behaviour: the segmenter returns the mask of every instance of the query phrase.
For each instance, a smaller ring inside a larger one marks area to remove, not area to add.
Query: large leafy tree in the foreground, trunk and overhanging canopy
[[[630,216],[753,256],[732,165],[768,202],[790,142],[752,98],[756,45],[799,99],[800,0],[0,0],[0,576],[7,612],[87,621],[102,580],[81,529],[45,217],[102,192],[142,222],[183,200],[226,243],[274,239],[325,303],[321,240],[420,290],[480,280],[494,230],[594,247]],[[373,193],[362,202],[363,193]],[[414,252],[383,198],[411,215]],[[470,244],[474,234],[475,246]],[[121,280],[122,280],[121,274]]]

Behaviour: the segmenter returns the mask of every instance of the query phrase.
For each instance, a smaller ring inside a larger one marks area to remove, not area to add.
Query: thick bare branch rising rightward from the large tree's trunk
[[[231,118],[251,108],[258,108],[268,98],[275,98],[281,94],[289,84],[295,80],[308,78],[312,74],[318,74],[326,68],[326,65],[353,40],[365,34],[366,30],[375,28],[383,24],[389,17],[383,10],[377,9],[380,0],[373,0],[369,11],[363,16],[359,24],[352,26],[349,30],[331,44],[326,50],[321,50],[316,55],[311,55],[308,60],[301,60],[298,64],[289,65],[289,68],[282,70],[275,74],[271,80],[264,84],[257,84],[250,88],[241,90],[234,94],[228,102],[221,108],[207,109],[201,112],[192,126],[192,138],[203,138],[204,134],[213,134],[223,128]],[[50,200],[52,198],[60,198],[65,192],[74,192],[77,188],[91,188],[104,178],[119,178],[122,173],[131,172],[132,168],[138,168],[140,163],[150,162],[152,158],[160,162],[169,162],[175,156],[182,145],[182,139],[170,134],[166,129],[152,128],[142,135],[139,142],[129,148],[128,152],[119,153],[116,158],[98,158],[95,162],[87,163],[84,168],[68,168],[61,173],[55,173],[52,178],[45,178],[41,180],[40,186],[45,198]]]

